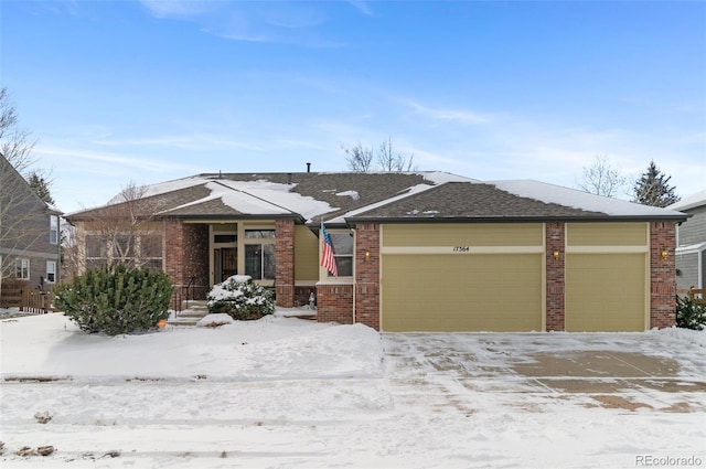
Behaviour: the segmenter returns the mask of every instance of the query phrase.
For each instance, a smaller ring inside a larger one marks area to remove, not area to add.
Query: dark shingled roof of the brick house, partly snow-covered
[[[90,220],[113,205],[77,212]],[[445,172],[205,173],[145,188],[153,216],[361,222],[686,220],[666,209],[537,181],[481,182]]]

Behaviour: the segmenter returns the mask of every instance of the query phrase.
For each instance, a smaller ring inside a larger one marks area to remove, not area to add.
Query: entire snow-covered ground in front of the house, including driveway
[[[285,316],[115,338],[62,315],[2,320],[2,468],[706,467],[706,333],[378,334]],[[596,352],[643,353],[663,376],[625,365],[576,392],[558,365],[526,372]]]

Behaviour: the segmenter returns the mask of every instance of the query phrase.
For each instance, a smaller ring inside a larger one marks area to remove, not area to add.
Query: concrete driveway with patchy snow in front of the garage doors
[[[419,393],[468,413],[567,405],[706,411],[706,350],[660,333],[385,333],[398,397]],[[417,390],[417,391],[415,391]]]

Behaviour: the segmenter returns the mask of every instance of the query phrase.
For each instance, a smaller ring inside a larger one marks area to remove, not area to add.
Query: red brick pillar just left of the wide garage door
[[[377,224],[362,224],[355,230],[355,322],[379,330],[379,225]]]

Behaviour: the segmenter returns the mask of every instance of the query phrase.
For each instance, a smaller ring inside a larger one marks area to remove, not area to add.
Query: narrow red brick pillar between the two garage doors
[[[563,331],[565,328],[565,224],[546,224],[546,265],[547,265],[547,331]],[[554,257],[554,252],[559,256]]]

